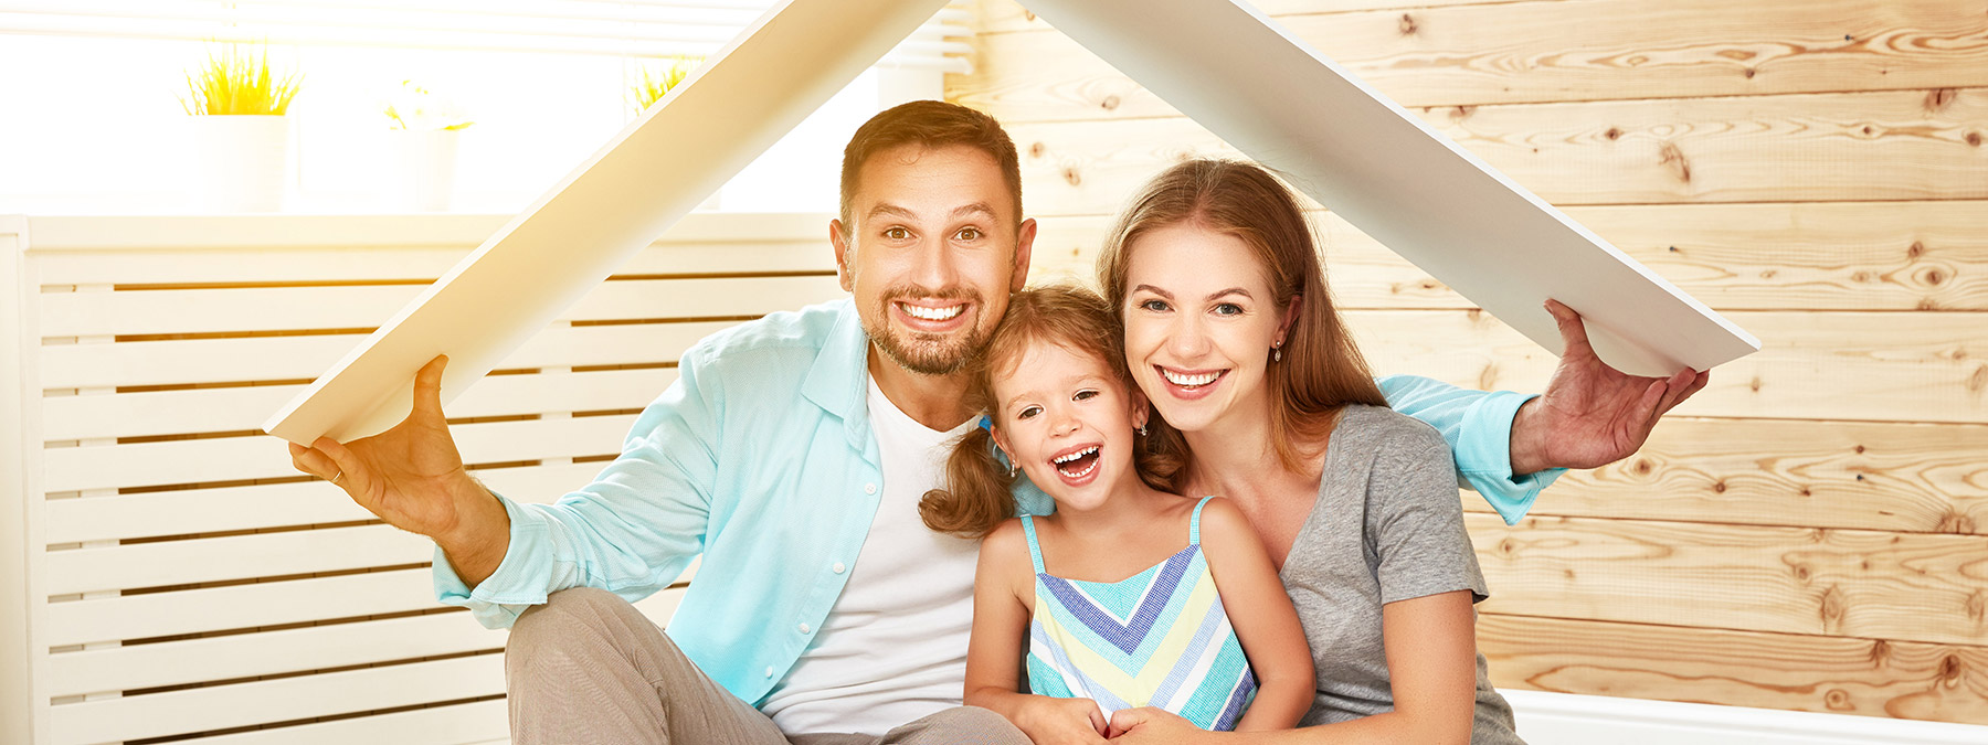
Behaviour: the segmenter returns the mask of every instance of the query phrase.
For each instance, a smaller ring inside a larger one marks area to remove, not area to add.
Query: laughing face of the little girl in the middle
[[[994,441],[1058,509],[1103,505],[1133,473],[1133,427],[1145,401],[1105,362],[1054,342],[1032,342],[994,379]]]

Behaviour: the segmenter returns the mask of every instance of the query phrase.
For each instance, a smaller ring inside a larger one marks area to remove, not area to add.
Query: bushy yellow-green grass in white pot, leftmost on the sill
[[[280,211],[292,185],[290,101],[298,74],[276,74],[268,50],[209,50],[187,72],[181,107],[191,119],[193,203],[215,213]]]

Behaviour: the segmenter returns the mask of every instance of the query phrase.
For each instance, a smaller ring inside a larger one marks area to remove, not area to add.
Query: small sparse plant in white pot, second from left
[[[412,79],[382,107],[388,119],[388,169],[380,197],[398,211],[445,211],[455,195],[455,153],[475,121]]]

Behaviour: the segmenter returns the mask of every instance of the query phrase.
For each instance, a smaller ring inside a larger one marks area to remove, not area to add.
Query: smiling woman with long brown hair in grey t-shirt
[[[1183,459],[1183,493],[1242,509],[1312,648],[1308,729],[1229,737],[1521,743],[1475,648],[1487,590],[1449,449],[1388,409],[1292,195],[1252,165],[1181,163],[1135,197],[1097,272],[1159,415],[1147,447]],[[1111,733],[1209,737],[1155,709]]]

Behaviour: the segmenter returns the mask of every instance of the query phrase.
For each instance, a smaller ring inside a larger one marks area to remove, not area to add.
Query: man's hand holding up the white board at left
[[[352,443],[330,437],[318,437],[312,447],[290,443],[290,465],[332,481],[388,524],[433,538],[473,586],[503,560],[511,519],[469,479],[449,437],[449,421],[441,417],[447,362],[435,358],[415,373],[414,411],[394,429]]]

